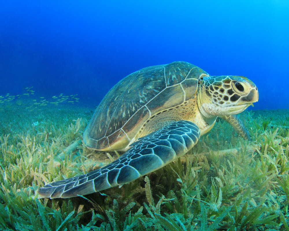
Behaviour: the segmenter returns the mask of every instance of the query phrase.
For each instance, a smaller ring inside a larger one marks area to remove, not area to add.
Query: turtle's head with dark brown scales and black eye
[[[199,79],[198,107],[205,117],[238,114],[257,102],[256,85],[242,76],[209,76]]]

